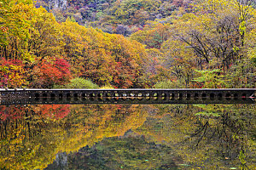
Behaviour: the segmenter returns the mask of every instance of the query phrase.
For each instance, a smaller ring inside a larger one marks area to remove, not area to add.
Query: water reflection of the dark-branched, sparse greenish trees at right
[[[209,150],[217,161],[226,167],[239,166],[253,169],[255,152],[250,140],[255,132],[255,105],[207,105],[202,107],[196,119],[193,133],[190,133],[191,149]],[[209,146],[211,145],[211,146]],[[255,142],[254,142],[255,145]],[[255,147],[254,147],[255,149]],[[212,151],[214,150],[214,151]],[[207,154],[206,154],[207,156]],[[214,158],[213,158],[214,159]]]

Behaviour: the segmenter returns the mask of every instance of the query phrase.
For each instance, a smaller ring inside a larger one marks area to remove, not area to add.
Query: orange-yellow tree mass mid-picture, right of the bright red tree
[[[73,65],[73,73],[98,85],[115,87],[143,86],[143,65],[147,54],[143,45],[120,35],[85,28],[67,20],[61,24],[64,52]]]

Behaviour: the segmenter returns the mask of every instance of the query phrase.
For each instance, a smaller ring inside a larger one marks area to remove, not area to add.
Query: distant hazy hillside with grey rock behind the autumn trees
[[[108,33],[129,36],[148,21],[165,19],[177,8],[189,10],[193,0],[38,0],[57,21],[70,18],[82,26],[93,26]]]

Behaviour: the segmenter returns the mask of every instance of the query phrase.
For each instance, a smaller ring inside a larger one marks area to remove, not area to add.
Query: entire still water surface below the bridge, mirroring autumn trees
[[[0,169],[256,169],[256,105],[2,105]]]

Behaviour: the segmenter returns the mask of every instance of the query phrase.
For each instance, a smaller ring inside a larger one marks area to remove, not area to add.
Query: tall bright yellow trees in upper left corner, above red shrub
[[[32,0],[3,0],[0,3],[0,57],[31,60],[27,41],[32,15]]]

